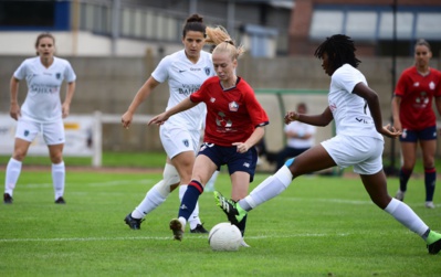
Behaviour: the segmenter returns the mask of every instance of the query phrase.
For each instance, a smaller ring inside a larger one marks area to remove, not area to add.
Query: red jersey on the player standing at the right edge
[[[405,70],[398,79],[395,95],[401,97],[400,120],[403,129],[422,130],[437,125],[433,97],[441,97],[441,72],[430,68],[422,76],[417,67]]]

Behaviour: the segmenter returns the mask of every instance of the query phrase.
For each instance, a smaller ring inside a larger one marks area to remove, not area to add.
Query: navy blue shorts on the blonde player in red
[[[224,147],[214,143],[203,142],[198,155],[204,155],[218,167],[227,164],[230,175],[235,171],[243,171],[250,174],[250,182],[254,179],[255,167],[258,163],[258,151],[252,147],[244,153],[238,153],[235,146]]]

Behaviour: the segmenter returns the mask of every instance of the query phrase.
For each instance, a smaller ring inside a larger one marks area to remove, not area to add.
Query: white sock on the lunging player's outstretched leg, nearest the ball
[[[240,206],[250,211],[260,204],[281,194],[293,180],[293,174],[283,166],[274,175],[266,178],[246,198],[239,201]]]

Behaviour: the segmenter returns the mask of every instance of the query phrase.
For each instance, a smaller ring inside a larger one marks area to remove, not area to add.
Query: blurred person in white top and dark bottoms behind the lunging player
[[[298,114],[306,114],[306,104],[300,103],[296,110]],[[277,162],[275,171],[282,168],[288,158],[297,157],[315,143],[315,126],[295,120],[285,125],[284,132],[286,136],[286,146],[275,156]]]

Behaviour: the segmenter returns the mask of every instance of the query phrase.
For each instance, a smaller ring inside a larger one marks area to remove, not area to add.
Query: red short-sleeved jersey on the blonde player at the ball
[[[218,76],[208,78],[190,100],[207,105],[204,142],[231,147],[232,142],[245,142],[256,127],[270,124],[254,90],[240,77],[235,87],[225,90]]]

